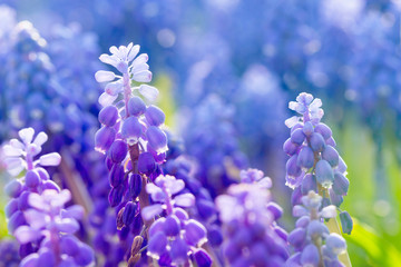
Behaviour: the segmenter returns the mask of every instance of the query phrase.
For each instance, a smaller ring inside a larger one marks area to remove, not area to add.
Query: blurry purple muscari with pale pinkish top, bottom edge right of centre
[[[275,211],[266,208],[268,202],[270,191],[257,184],[233,185],[227,195],[216,198],[225,235],[223,254],[229,265],[268,266],[274,258],[277,266],[284,266],[286,240],[274,230]],[[245,250],[251,256],[241,253]]]

